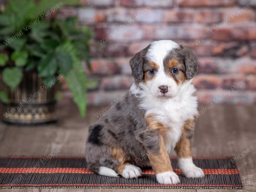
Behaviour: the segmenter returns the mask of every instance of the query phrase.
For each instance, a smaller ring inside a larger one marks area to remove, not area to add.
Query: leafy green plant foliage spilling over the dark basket
[[[73,93],[81,116],[86,111],[86,74],[82,60],[89,64],[88,41],[92,31],[78,26],[77,19],[47,17],[62,6],[79,5],[76,0],[10,0],[0,12],[0,67],[2,81],[12,90],[20,84],[23,70],[37,70],[47,84],[62,74]],[[8,103],[0,90],[0,99]]]

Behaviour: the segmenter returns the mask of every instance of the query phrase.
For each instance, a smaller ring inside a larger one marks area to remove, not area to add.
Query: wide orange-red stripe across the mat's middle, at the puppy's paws
[[[203,169],[204,174],[239,174],[238,169]],[[180,169],[174,169],[174,172],[181,174]],[[92,174],[93,172],[85,168],[0,168],[0,173],[77,173],[77,174]],[[143,174],[154,175],[155,172],[151,169],[143,170]]]

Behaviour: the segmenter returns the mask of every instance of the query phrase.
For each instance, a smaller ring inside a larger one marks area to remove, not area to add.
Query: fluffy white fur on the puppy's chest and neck
[[[157,99],[150,95],[143,94],[133,85],[132,93],[140,93],[143,96],[143,102],[140,107],[145,109],[145,116],[154,114],[154,117],[169,128],[166,134],[166,151],[170,153],[180,139],[182,127],[187,119],[191,119],[197,113],[197,97],[193,96],[195,87],[191,81],[183,83],[177,96],[169,99]]]

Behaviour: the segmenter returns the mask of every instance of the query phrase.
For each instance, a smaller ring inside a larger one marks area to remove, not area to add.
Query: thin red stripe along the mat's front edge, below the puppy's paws
[[[243,185],[163,185],[163,184],[0,184],[0,186],[243,186]]]

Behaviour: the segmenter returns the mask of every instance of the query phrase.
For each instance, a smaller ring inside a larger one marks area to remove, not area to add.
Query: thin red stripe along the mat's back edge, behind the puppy
[[[48,156],[0,156],[0,159],[41,159],[41,158],[47,158],[47,159],[85,159],[85,157],[48,157]],[[233,157],[193,157],[193,159],[232,159]],[[177,157],[170,157],[170,159],[177,159]]]

